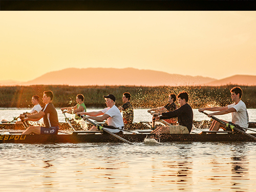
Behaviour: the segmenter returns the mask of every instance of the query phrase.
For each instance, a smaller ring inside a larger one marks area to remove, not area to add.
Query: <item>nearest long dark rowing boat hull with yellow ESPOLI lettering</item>
[[[256,140],[244,134],[232,134],[230,132],[220,131],[217,134],[162,134],[155,135],[142,133],[121,135],[130,142],[143,142],[145,138],[155,139],[159,142],[255,142]],[[222,133],[221,133],[222,132]],[[120,139],[110,134],[87,134],[88,132],[77,131],[72,134],[58,135],[20,135],[20,134],[2,134],[0,143],[109,143],[122,142]],[[251,134],[256,136],[256,134]]]

